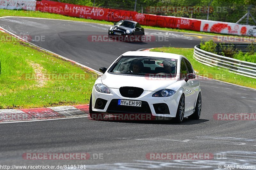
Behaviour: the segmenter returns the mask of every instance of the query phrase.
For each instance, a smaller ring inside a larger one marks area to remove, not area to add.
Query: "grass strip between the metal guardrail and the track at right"
[[[191,62],[193,68],[198,75],[203,75],[204,77],[209,77],[212,79],[226,81],[229,83],[238,84],[241,86],[251,87],[256,89],[256,79],[245,77],[242,75],[237,75],[228,72],[228,70],[218,69],[218,67],[209,67],[204,64],[199,63],[193,58],[193,48],[174,48],[174,47],[162,47],[151,49],[150,51],[165,52],[165,53],[176,53],[184,55]]]

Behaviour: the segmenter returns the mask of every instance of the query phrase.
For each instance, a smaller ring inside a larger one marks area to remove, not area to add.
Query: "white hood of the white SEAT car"
[[[133,75],[119,75],[119,74],[104,74],[101,77],[102,84],[108,86],[108,88],[119,89],[120,87],[139,87],[145,91],[158,91],[165,89],[177,80],[172,79],[160,79],[156,77],[148,76],[133,76]]]

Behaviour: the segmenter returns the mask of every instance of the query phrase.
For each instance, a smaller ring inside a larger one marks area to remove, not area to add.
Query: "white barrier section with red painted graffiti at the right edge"
[[[240,25],[230,22],[202,20],[200,32],[215,32],[234,35],[256,36],[256,26]]]

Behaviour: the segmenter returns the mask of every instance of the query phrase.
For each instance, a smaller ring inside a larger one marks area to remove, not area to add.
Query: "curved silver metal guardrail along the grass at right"
[[[230,72],[256,79],[256,63],[233,59],[201,50],[200,45],[194,47],[194,58],[207,66],[226,68]]]

